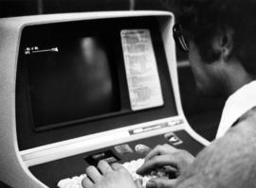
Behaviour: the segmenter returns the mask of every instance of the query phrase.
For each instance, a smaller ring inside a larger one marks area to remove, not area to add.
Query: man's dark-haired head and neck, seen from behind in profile
[[[200,93],[230,94],[256,76],[256,0],[177,2]]]

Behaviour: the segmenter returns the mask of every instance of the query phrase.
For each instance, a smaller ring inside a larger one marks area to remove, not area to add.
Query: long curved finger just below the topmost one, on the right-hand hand
[[[146,174],[149,173],[151,170],[157,167],[162,167],[164,165],[176,166],[178,162],[179,159],[175,158],[174,155],[155,156],[153,159],[143,163],[143,165],[137,169],[137,174]]]

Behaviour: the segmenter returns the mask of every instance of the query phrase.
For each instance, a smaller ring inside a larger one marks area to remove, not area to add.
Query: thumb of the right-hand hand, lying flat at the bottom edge
[[[176,179],[150,179],[146,188],[173,188],[176,183]]]

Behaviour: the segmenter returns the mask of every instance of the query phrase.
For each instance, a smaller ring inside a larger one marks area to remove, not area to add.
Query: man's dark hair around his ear
[[[202,60],[217,60],[211,40],[222,28],[233,30],[229,58],[239,60],[248,74],[256,75],[256,0],[176,0],[177,20],[196,44]]]

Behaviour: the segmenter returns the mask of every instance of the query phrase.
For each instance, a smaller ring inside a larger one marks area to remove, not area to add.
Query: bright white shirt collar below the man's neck
[[[216,139],[225,135],[230,127],[247,111],[256,107],[256,80],[231,94],[222,111]]]

